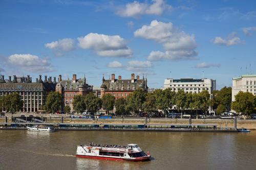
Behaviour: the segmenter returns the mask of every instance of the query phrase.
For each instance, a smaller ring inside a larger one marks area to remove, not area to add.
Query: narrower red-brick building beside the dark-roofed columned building
[[[77,79],[76,75],[73,75],[72,80],[62,80],[61,75],[58,77],[58,83],[56,84],[56,91],[61,93],[62,105],[69,105],[71,111],[73,111],[73,98],[76,95],[86,95],[92,92],[93,86],[86,83],[86,77]]]

